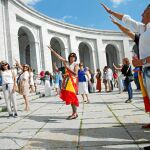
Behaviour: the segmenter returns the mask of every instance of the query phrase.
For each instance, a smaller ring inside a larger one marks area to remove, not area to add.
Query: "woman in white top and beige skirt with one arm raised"
[[[23,95],[23,99],[25,100],[25,111],[29,111],[29,65],[20,65],[18,61],[16,61],[16,64],[18,67],[20,67],[20,69],[22,69],[18,83],[19,94]]]

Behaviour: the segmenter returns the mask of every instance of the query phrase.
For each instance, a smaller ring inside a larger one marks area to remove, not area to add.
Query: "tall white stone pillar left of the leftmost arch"
[[[3,1],[2,1],[3,2]],[[16,25],[16,15],[13,6],[9,1],[4,1],[5,5],[5,49],[7,61],[10,65],[15,63],[15,59],[19,60],[19,44],[18,44],[18,29]]]

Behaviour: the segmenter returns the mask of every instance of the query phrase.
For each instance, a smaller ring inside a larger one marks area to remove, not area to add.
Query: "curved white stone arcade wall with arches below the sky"
[[[75,52],[79,58],[80,42],[87,43],[91,48],[90,58],[94,71],[107,65],[105,48],[108,43],[118,48],[119,61],[125,56],[132,57],[129,39],[122,33],[85,29],[50,19],[28,8],[19,0],[0,0],[0,12],[0,59],[10,63],[14,63],[14,59],[19,60],[20,57],[18,31],[21,27],[26,27],[35,39],[31,41],[35,45],[32,56],[36,59],[32,63],[36,65],[38,72],[52,71],[52,58],[47,45],[53,37],[63,42],[66,59],[70,52]]]

